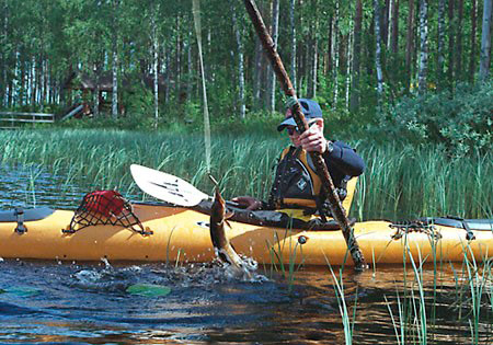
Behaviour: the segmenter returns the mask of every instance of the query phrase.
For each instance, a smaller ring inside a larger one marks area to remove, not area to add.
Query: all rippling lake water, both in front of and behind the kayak
[[[0,168],[0,208],[73,209],[87,192],[42,168]],[[402,265],[339,268],[341,289],[329,267],[301,267],[290,284],[272,266],[244,281],[217,263],[0,260],[0,343],[493,344],[491,272],[469,274],[460,263],[436,275],[426,264],[417,277]],[[142,284],[165,292],[129,289]]]

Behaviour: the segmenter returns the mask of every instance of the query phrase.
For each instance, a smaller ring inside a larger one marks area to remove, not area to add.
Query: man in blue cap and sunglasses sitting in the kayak
[[[299,99],[298,102],[309,125],[308,130],[303,134],[298,133],[291,108],[288,108],[277,130],[286,129],[291,146],[280,153],[268,202],[251,196],[239,196],[232,199],[242,207],[251,210],[303,208],[308,212],[318,212],[322,217],[326,215],[329,205],[326,205],[326,197],[321,195],[323,194],[321,180],[308,154],[310,151],[322,153],[341,200],[346,196],[347,181],[360,175],[365,170],[365,162],[353,148],[342,141],[325,139],[320,105],[307,99]]]

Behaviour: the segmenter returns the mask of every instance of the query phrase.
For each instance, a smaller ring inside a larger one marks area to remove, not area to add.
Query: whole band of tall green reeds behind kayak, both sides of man
[[[280,135],[214,135],[211,173],[226,197],[268,195],[274,165],[287,145]],[[409,219],[456,215],[491,218],[493,154],[447,157],[439,146],[414,148],[351,142],[367,162],[352,215],[363,219]],[[177,175],[211,193],[200,134],[107,129],[38,129],[0,133],[2,165],[41,165],[60,186],[117,188],[138,195],[129,165],[138,163]]]

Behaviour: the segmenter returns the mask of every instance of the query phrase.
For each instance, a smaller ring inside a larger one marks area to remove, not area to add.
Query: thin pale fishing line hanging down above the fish
[[[210,174],[210,122],[209,122],[209,110],[207,105],[207,91],[205,84],[205,74],[204,74],[204,60],[202,57],[202,26],[200,26],[200,4],[199,0],[193,0],[192,3],[192,12],[194,14],[194,24],[195,24],[195,35],[197,36],[197,46],[198,46],[198,60],[200,62],[200,74],[202,74],[202,94],[204,99],[204,142],[205,142],[205,151],[206,151],[206,166],[207,173]]]

